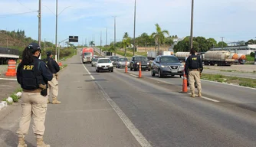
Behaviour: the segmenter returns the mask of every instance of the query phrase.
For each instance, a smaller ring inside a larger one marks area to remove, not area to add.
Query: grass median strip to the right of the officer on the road
[[[241,77],[228,77],[221,74],[208,74],[208,73],[202,73],[201,78],[204,80],[212,80],[220,83],[234,83],[243,87],[256,88],[255,79],[241,78]]]

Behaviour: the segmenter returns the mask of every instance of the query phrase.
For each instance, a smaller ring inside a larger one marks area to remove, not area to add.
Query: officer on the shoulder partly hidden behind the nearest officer
[[[49,69],[51,70],[51,73],[53,73],[52,80],[48,82],[48,87],[49,87],[48,88],[48,103],[50,103],[49,98],[50,98],[50,93],[51,93],[52,103],[59,104],[61,102],[57,100],[57,94],[58,94],[57,72],[60,71],[60,67],[57,64],[57,62],[52,59],[51,51],[47,52],[46,63],[47,63],[47,66],[49,67]]]

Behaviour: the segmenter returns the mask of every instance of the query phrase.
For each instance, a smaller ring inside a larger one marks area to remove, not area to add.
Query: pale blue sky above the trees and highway
[[[54,0],[42,1],[41,38],[55,42]],[[67,8],[68,7],[68,8]],[[154,24],[170,34],[183,38],[190,34],[191,0],[136,0],[136,37],[143,32],[151,34]],[[59,0],[58,41],[69,35],[79,36],[82,44],[94,38],[100,44],[100,31],[105,44],[113,41],[113,16],[117,16],[117,41],[124,32],[133,37],[134,0]],[[51,11],[50,11],[50,10]],[[25,30],[25,34],[38,39],[38,0],[0,0],[0,29]],[[221,41],[247,41],[256,37],[255,0],[195,0],[194,36]]]

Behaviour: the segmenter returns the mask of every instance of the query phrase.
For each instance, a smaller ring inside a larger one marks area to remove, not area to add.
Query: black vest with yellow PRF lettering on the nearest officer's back
[[[36,90],[39,88],[39,84],[45,84],[44,77],[39,70],[41,61],[34,60],[33,63],[29,65],[21,65],[21,88],[25,90]]]

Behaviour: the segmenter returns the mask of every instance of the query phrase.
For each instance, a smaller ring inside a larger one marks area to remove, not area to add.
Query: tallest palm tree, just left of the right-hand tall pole
[[[155,41],[157,42],[157,46],[158,46],[158,55],[159,55],[159,45],[162,44],[165,41],[165,34],[167,34],[169,36],[169,31],[167,30],[163,30],[162,28],[159,26],[159,24],[155,24],[156,25],[156,32],[154,32],[153,34],[151,34],[151,38],[154,38]]]

